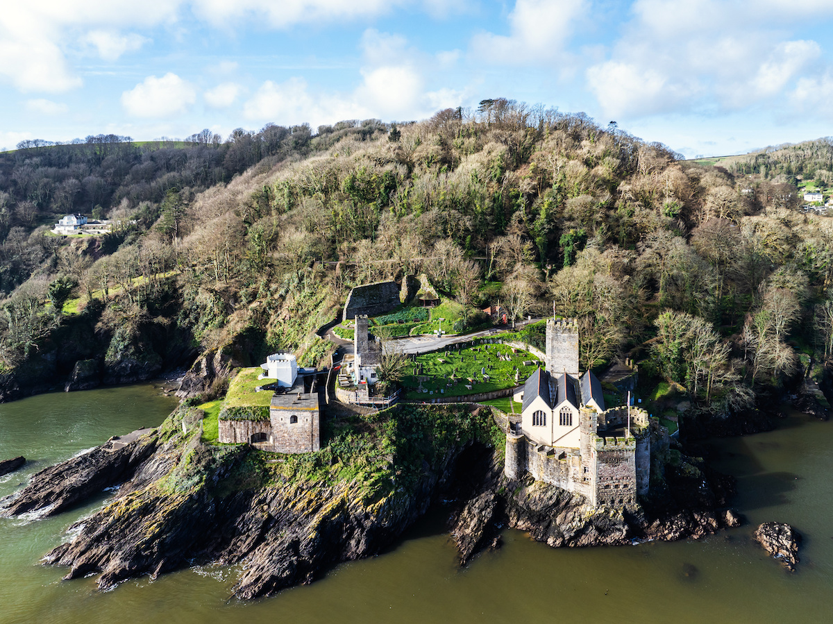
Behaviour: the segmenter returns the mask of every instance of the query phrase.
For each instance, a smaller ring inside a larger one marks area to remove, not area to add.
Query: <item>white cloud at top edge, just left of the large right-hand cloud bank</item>
[[[562,57],[575,22],[588,12],[586,0],[516,0],[509,14],[510,34],[482,32],[471,41],[476,57],[529,65]]]

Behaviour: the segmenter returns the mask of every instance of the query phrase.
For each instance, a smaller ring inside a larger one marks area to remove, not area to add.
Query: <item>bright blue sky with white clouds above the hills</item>
[[[407,121],[486,97],[688,157],[833,135],[833,0],[29,0],[0,147]]]

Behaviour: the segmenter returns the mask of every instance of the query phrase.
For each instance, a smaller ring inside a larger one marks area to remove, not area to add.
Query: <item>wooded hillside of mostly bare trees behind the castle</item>
[[[327,350],[313,332],[350,287],[422,272],[469,310],[555,302],[580,319],[582,367],[633,351],[721,413],[783,382],[801,352],[833,350],[833,222],[797,211],[772,167],[681,162],[581,113],[503,99],[195,141],[0,155],[8,375],[51,348],[57,375],[85,357],[152,353],[159,370],[224,349],[312,363]],[[823,176],[821,143],[801,162]],[[73,210],[124,226],[50,236],[42,223]],[[71,327],[97,347],[63,353]]]

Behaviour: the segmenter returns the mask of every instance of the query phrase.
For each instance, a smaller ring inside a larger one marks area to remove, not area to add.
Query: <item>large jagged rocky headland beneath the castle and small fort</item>
[[[38,472],[0,508],[7,516],[55,514],[121,484],[45,562],[69,567],[67,579],[100,573],[102,588],[195,562],[242,564],[234,588],[241,598],[377,554],[440,500],[456,509],[451,535],[463,563],[495,545],[506,525],[554,547],[697,537],[726,526],[725,515],[697,504],[592,509],[556,487],[507,481],[495,451],[501,445],[490,443],[499,430],[488,410],[434,407],[429,418],[420,409],[402,407],[395,418],[366,423],[387,432],[372,448],[351,434],[315,454],[267,456],[203,443],[194,410],[181,407],[124,446],[109,441]],[[474,424],[463,430],[464,422]],[[365,455],[333,450],[350,445]]]

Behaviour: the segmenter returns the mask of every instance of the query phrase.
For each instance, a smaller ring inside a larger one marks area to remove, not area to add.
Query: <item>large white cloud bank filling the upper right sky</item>
[[[815,71],[821,47],[787,38],[795,20],[787,2],[764,4],[636,0],[606,59],[587,68],[587,87],[612,117],[784,107],[786,92]]]

